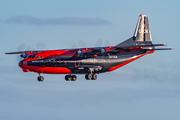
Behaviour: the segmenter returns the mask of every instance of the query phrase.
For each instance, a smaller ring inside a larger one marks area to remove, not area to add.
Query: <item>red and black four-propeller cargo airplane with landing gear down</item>
[[[86,80],[96,80],[99,73],[114,71],[134,60],[156,50],[165,44],[153,44],[148,16],[140,15],[134,35],[115,46],[76,48],[60,50],[36,50],[8,52],[20,54],[24,58],[19,62],[23,72],[36,72],[38,81],[43,81],[41,74],[66,74],[66,81],[76,81],[76,74],[85,74]]]

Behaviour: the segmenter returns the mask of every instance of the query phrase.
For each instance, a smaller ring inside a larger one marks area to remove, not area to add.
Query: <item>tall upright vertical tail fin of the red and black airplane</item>
[[[118,44],[120,45],[151,45],[152,38],[149,28],[148,16],[140,15],[133,37]]]

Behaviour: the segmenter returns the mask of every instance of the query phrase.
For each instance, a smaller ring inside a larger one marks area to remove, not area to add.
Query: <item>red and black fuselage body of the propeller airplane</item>
[[[150,53],[146,50],[138,50],[114,55],[94,56],[91,58],[86,58],[84,55],[79,57],[58,55],[56,57],[42,58],[43,56],[41,54],[46,54],[45,52],[39,52],[37,55],[33,55],[33,58],[25,58],[19,63],[19,66],[24,72],[31,71],[49,74],[103,73],[113,71],[142,55]]]

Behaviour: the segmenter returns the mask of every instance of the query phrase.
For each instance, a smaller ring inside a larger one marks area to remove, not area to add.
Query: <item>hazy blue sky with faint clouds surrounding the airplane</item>
[[[179,0],[0,0],[1,120],[180,118]],[[148,15],[157,51],[87,81],[24,73],[5,52],[117,45]]]

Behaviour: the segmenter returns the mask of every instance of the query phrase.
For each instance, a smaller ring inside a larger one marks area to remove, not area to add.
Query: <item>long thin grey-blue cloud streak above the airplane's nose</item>
[[[31,16],[13,16],[4,21],[5,23],[29,24],[29,25],[110,25],[111,23],[101,18],[35,18]]]

